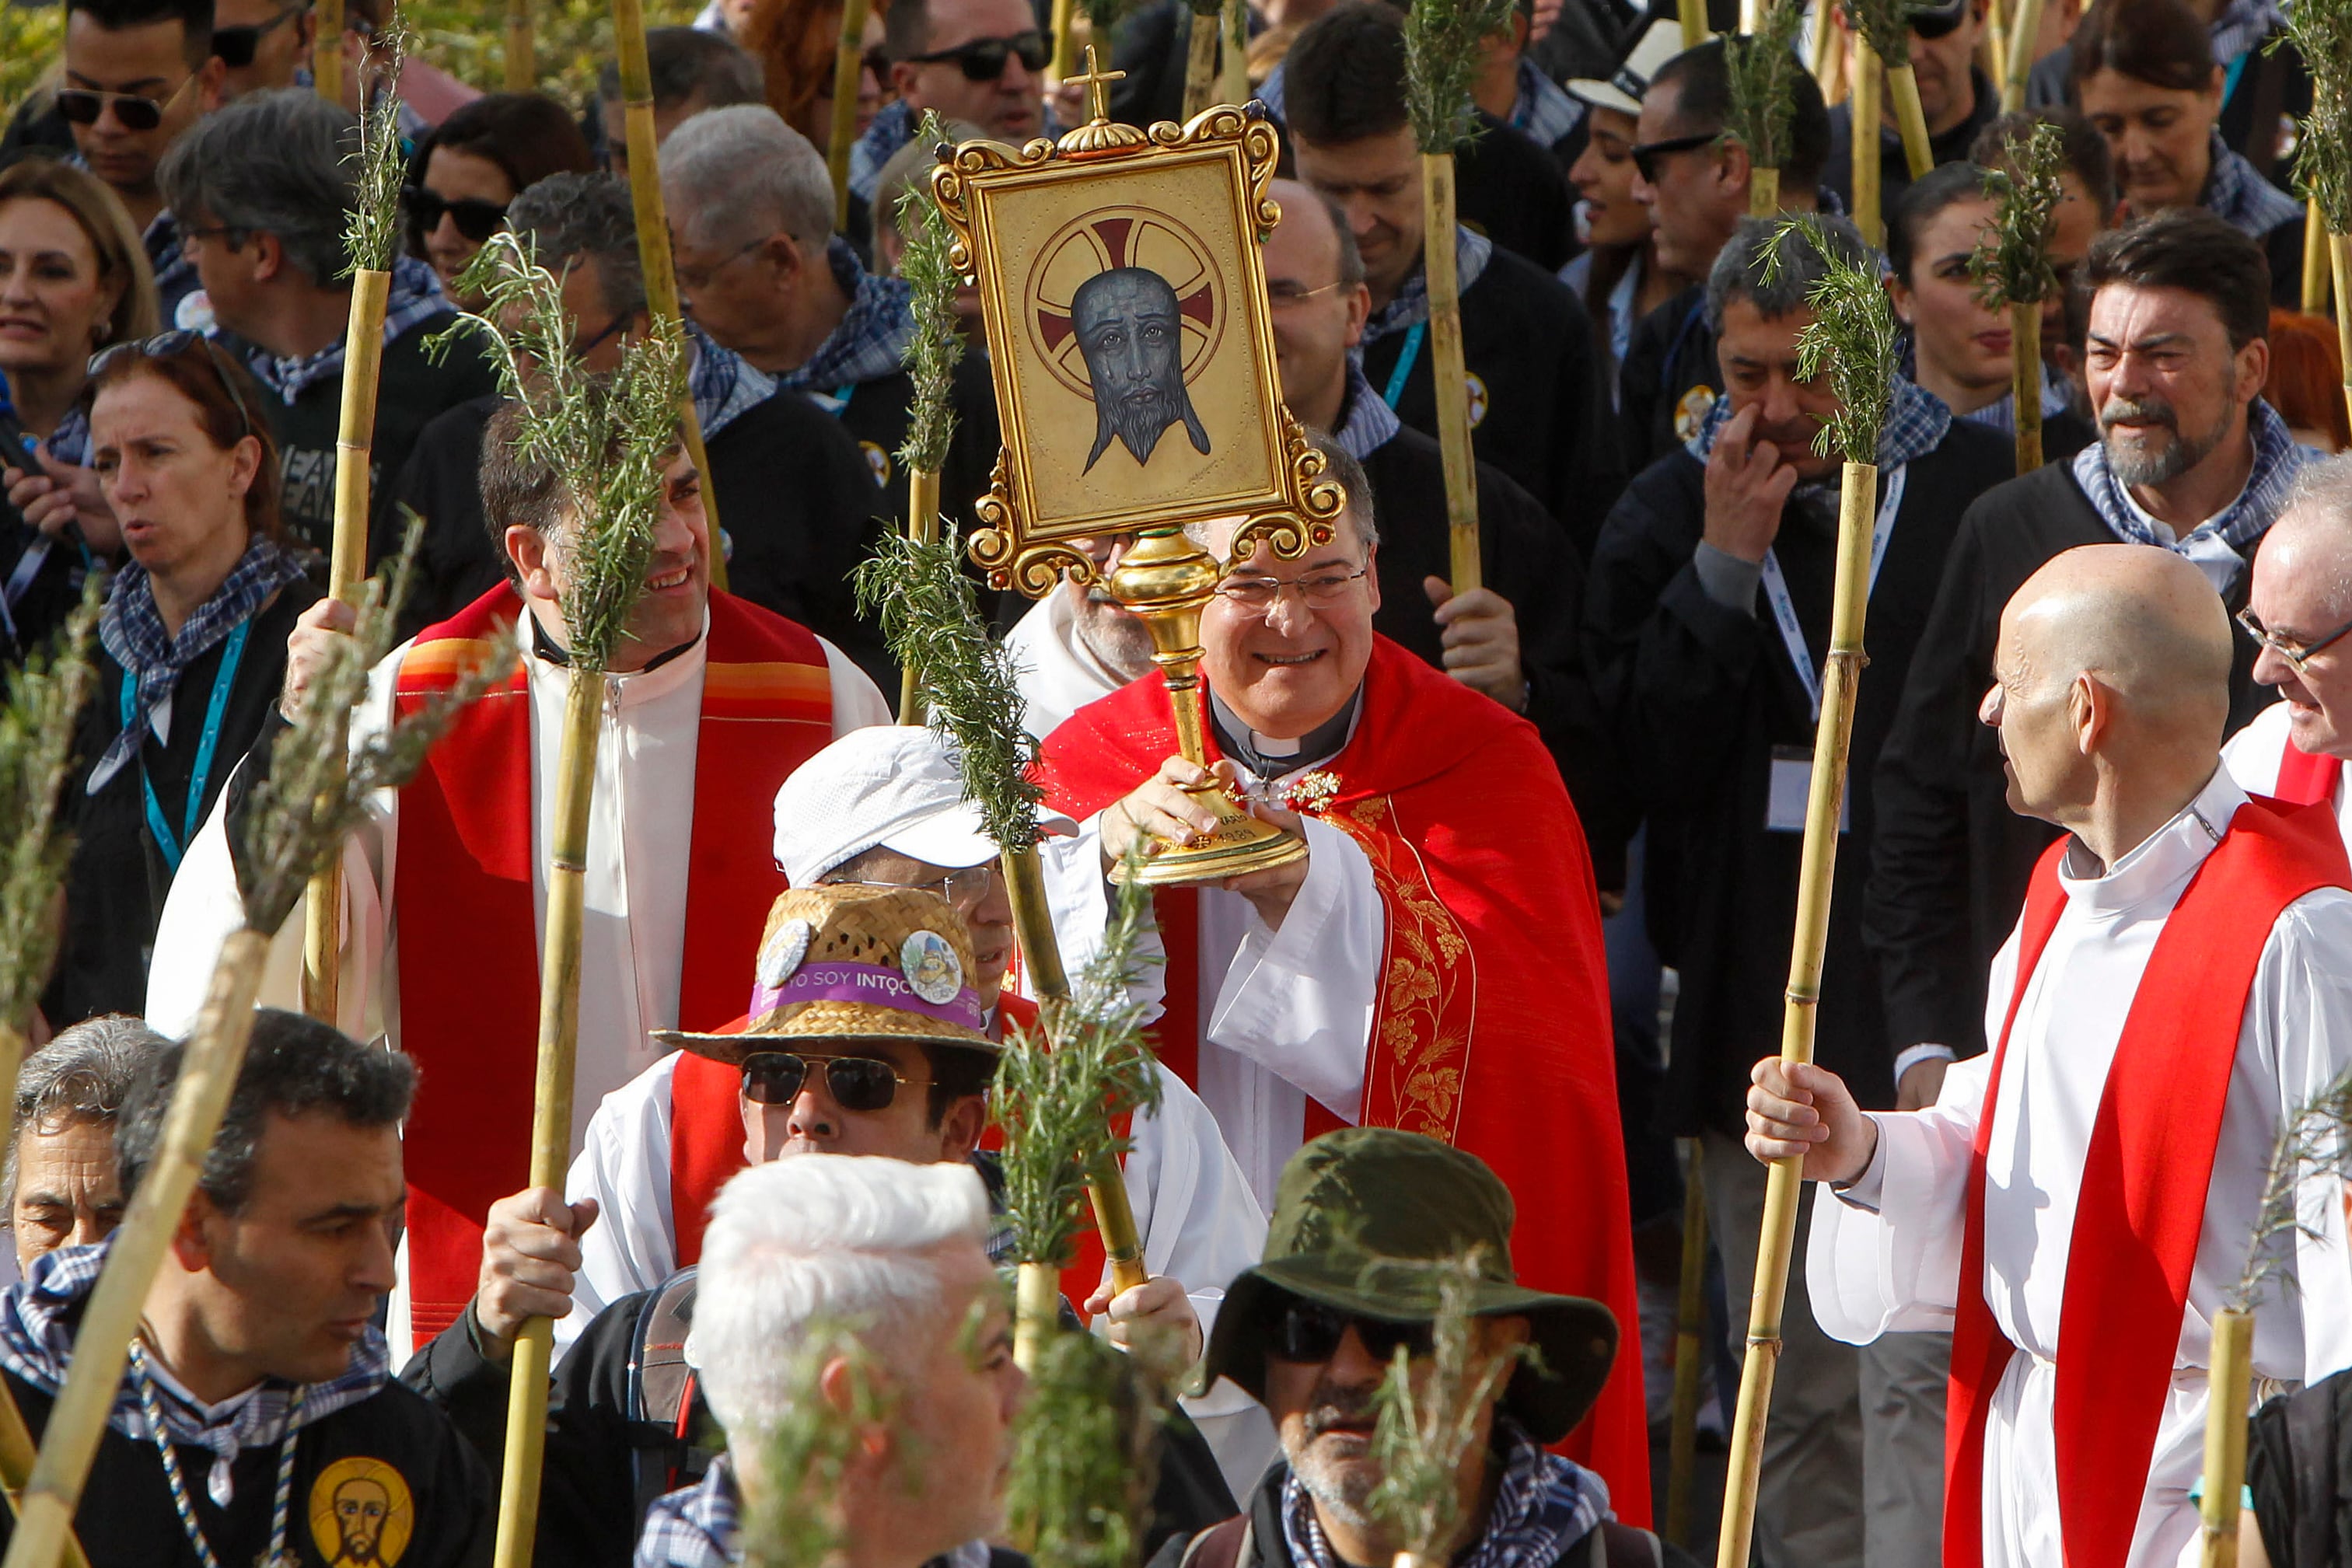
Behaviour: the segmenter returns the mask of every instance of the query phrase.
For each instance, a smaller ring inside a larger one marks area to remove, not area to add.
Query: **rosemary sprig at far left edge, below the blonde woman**
[[[0,1030],[24,1027],[56,961],[56,889],[66,882],[73,835],[56,825],[73,769],[73,726],[96,689],[89,644],[106,602],[106,578],[82,583],[82,602],[47,651],[7,684],[0,705]]]

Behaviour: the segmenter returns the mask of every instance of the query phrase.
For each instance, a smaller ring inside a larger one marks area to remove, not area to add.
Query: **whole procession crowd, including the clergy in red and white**
[[[553,1316],[539,1563],[736,1563],[800,1502],[856,1568],[1018,1568],[990,1084],[1037,1006],[960,757],[894,724],[849,578],[908,510],[917,122],[1084,122],[1051,7],[877,0],[837,205],[840,0],[654,28],[654,169],[616,68],[588,103],[475,92],[430,47],[393,78],[386,0],[343,7],[341,103],[306,0],[61,5],[0,139],[0,691],[85,585],[106,604],[5,1164],[0,1373],[35,1436],[238,924],[273,743],[353,632],[325,555],[376,94],[407,162],[369,564],[409,515],[421,543],[355,738],[522,644],[343,844],[336,1018],[301,1016],[303,919],[273,947],[75,1519],[89,1561],[489,1561],[517,1333]],[[1651,1533],[1684,1199],[1719,1446],[1788,1157],[1816,1187],[1757,1563],[2197,1561],[2211,1326],[2256,1248],[2241,1561],[2352,1566],[2352,1199],[2314,1171],[2296,1225],[2265,1220],[2272,1145],[2352,1067],[2352,423],[2284,190],[2312,82],[2270,0],[2034,14],[2002,113],[1990,0],[1910,12],[1910,176],[1891,103],[1853,125],[1851,21],[1823,7],[1830,68],[1795,75],[1776,169],[1816,223],[1788,242],[1750,216],[1726,45],[1684,47],[1670,7],[1515,7],[1451,235],[1404,12],[1249,7],[1282,132],[1265,317],[1345,510],[1298,559],[1200,529],[1209,766],[1103,583],[1131,534],[1084,541],[1094,581],[978,597],[1073,973],[1134,835],[1216,827],[1202,785],[1305,844],[1155,893],[1157,1098],[1124,1133],[1150,1279],[1115,1288],[1091,1237],[1061,1276],[1065,1316],[1197,1371],[1155,1439],[1160,1568],[1388,1568],[1374,1392],[1395,1352],[1428,1363],[1461,1255],[1472,1356],[1517,1368],[1477,1410],[1454,1561],[1686,1561]],[[1098,33],[1115,118],[1178,113],[1195,26],[1148,0]],[[2042,127],[2060,287],[2020,473],[2025,376],[1973,263]],[[1858,134],[1882,249],[1846,216]],[[633,181],[666,202],[708,463],[668,456],[602,677],[557,1190],[527,1150],[581,501],[452,327],[513,230],[579,367],[614,371],[656,329]],[[1430,244],[1468,386],[1432,346]],[[1844,411],[1799,341],[1837,268],[1884,277],[1903,367],[1816,1060],[1783,1067]],[[1004,425],[969,287],[957,317],[941,505],[971,527]],[[1461,592],[1449,397],[1484,583]],[[769,1474],[809,1401],[856,1434],[818,1500]]]

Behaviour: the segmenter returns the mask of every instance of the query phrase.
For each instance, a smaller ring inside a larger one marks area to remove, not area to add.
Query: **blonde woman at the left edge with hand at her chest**
[[[80,397],[92,353],[151,331],[155,277],[122,202],[71,165],[0,169],[0,407],[14,404],[0,437],[0,665],[40,646],[89,569],[122,550],[85,468]]]

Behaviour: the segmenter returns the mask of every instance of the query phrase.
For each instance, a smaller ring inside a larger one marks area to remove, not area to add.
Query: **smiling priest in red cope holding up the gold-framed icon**
[[[1515,1265],[1538,1291],[1635,1319],[1625,1154],[1592,865],[1536,729],[1374,635],[1362,470],[1329,545],[1230,567],[1202,614],[1202,731],[1218,776],[1305,860],[1155,896],[1162,1060],[1216,1114],[1249,1180],[1338,1126],[1399,1126],[1484,1159],[1519,1204]],[[1225,559],[1230,524],[1197,543]],[[1141,827],[1207,825],[1176,785],[1157,672],[1044,743],[1049,804],[1082,823],[1056,853],[1056,926],[1101,931],[1105,870]],[[1105,856],[1105,849],[1112,853]],[[1084,954],[1065,954],[1073,969]],[[1623,1356],[1566,1453],[1649,1516],[1642,1368]]]

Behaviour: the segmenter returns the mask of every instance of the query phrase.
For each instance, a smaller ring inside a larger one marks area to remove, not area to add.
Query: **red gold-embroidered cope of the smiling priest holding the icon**
[[[1148,675],[1056,729],[1040,773],[1054,809],[1087,818],[1174,752],[1167,686]],[[1517,1197],[1519,1279],[1616,1314],[1623,1352],[1564,1453],[1609,1479],[1623,1519],[1646,1521],[1609,976],[1559,769],[1531,724],[1376,637],[1355,738],[1317,773],[1334,788],[1315,813],[1362,846],[1385,917],[1364,1100],[1348,1110],[1484,1159]],[[1185,952],[1197,922],[1174,917],[1169,893],[1157,907],[1171,1016],[1197,1013],[1200,964]],[[1197,1018],[1185,1039],[1164,1032],[1162,1060],[1178,1077],[1190,1079],[1197,1039]],[[1310,1107],[1310,1135],[1331,1126],[1338,1117]]]

